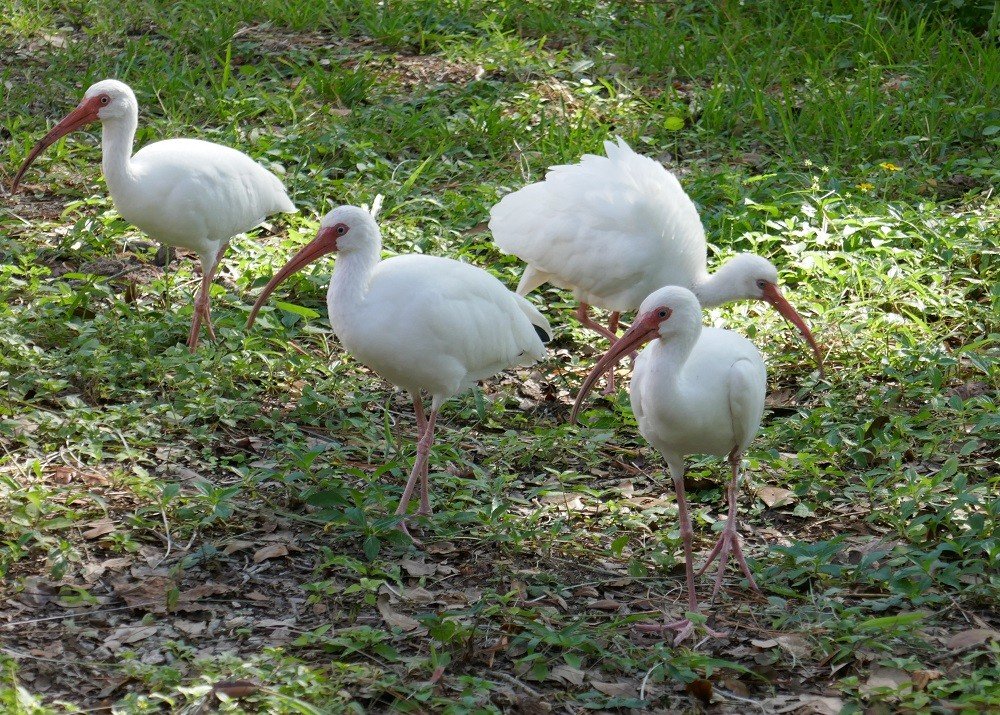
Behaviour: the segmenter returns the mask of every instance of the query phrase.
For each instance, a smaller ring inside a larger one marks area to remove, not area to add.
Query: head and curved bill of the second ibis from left
[[[319,223],[316,238],[303,246],[298,253],[274,274],[253,304],[247,318],[247,330],[253,327],[257,312],[278,284],[315,260],[330,253],[352,253],[380,241],[378,224],[371,213],[357,206],[338,206]]]

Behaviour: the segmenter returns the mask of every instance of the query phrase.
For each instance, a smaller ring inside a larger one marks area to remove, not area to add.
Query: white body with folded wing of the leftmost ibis
[[[198,139],[167,139],[132,158],[137,181],[119,211],[153,238],[225,240],[268,215],[294,212],[277,176],[246,154]]]

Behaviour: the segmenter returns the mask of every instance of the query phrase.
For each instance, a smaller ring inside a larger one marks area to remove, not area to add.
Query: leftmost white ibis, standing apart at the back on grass
[[[296,211],[281,180],[235,149],[198,139],[167,139],[132,156],[139,105],[132,89],[106,79],[87,89],[83,101],[42,137],[24,160],[11,191],[42,151],[60,137],[101,122],[101,166],[115,208],[161,243],[194,251],[201,259],[188,347],[194,352],[202,321],[212,327],[210,287],[219,261],[238,234],[267,216]]]

